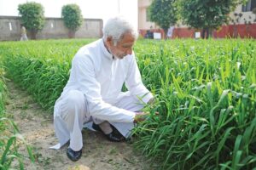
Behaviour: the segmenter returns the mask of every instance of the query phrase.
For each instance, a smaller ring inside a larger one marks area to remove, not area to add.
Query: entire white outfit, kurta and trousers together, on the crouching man
[[[125,93],[121,92],[124,82]],[[55,102],[57,145],[61,147],[70,139],[70,147],[80,150],[83,125],[92,120],[97,124],[108,121],[127,138],[134,127],[135,112],[151,98],[134,53],[114,59],[102,39],[85,45],[75,54],[67,85]]]

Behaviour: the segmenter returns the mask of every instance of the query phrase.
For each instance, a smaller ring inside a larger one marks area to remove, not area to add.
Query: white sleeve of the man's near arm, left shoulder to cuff
[[[93,60],[86,55],[78,55],[73,59],[72,73],[79,90],[87,99],[91,116],[108,122],[133,122],[135,113],[119,109],[102,100],[101,85],[96,81]]]

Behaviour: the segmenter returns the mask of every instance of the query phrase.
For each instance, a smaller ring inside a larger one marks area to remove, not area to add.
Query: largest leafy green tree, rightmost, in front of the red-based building
[[[183,24],[195,29],[202,29],[202,37],[212,35],[213,29],[218,29],[228,23],[229,14],[244,0],[180,0],[179,11]]]

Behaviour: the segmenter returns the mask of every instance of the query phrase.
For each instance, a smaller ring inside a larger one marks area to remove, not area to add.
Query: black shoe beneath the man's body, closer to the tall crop
[[[125,140],[125,137],[119,133],[119,131],[113,127],[113,125],[110,124],[110,126],[112,127],[113,131],[112,133],[108,133],[108,134],[105,134],[103,133],[102,131],[102,128],[99,127],[99,125],[95,124],[95,123],[92,123],[92,127],[96,130],[96,131],[99,131],[99,132],[102,132],[108,140],[112,141],[112,142],[121,142],[121,141],[124,141]]]

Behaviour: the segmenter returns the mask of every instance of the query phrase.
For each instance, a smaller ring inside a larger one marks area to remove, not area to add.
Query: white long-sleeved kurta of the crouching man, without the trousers
[[[113,123],[131,123],[135,112],[115,106],[123,97],[121,89],[124,82],[130,94],[142,99],[144,103],[153,98],[143,85],[134,53],[128,54],[124,59],[113,59],[113,55],[108,53],[103,40],[100,39],[85,45],[75,54],[70,77],[61,97],[77,90],[84,94],[86,110],[91,117]],[[90,120],[87,116],[84,122]],[[55,123],[55,133],[60,141],[67,141],[68,135],[61,136],[61,132],[67,131],[63,129],[65,126],[62,123],[64,122]]]

